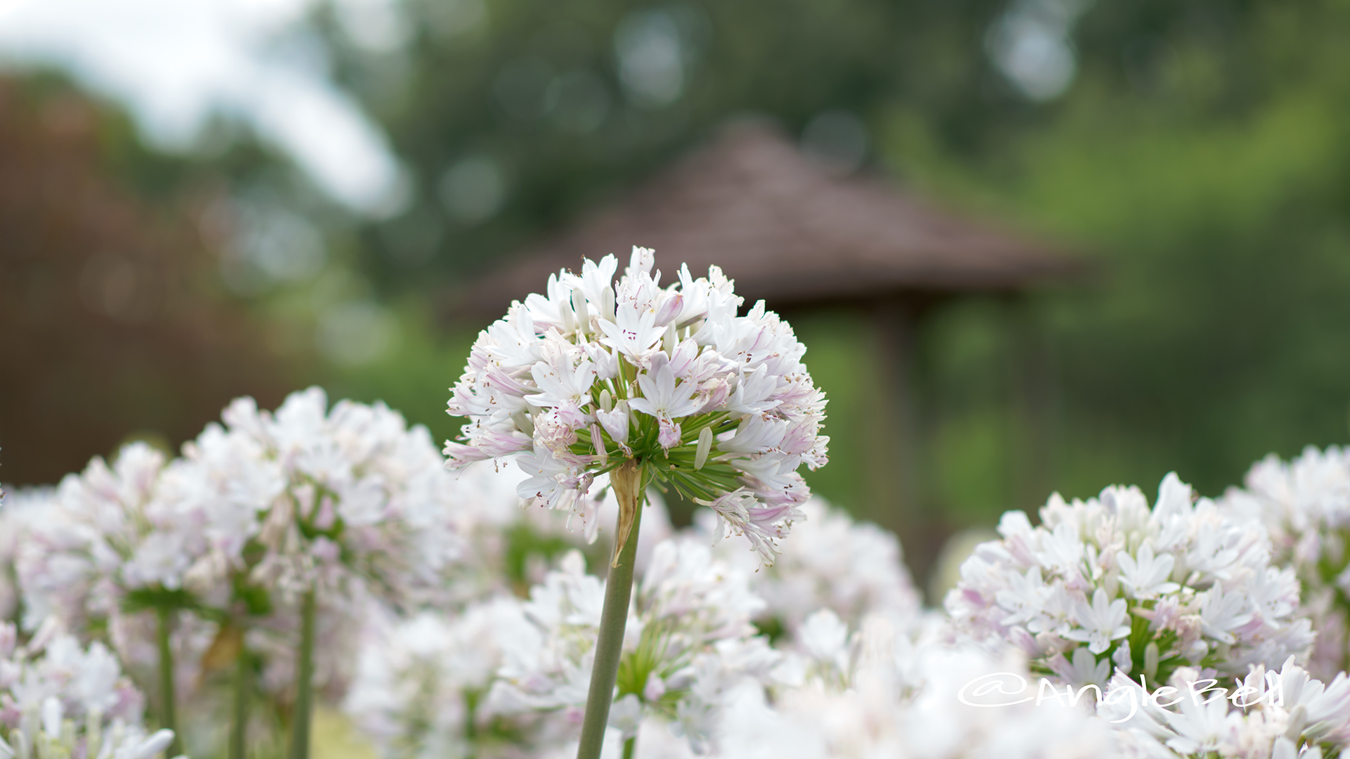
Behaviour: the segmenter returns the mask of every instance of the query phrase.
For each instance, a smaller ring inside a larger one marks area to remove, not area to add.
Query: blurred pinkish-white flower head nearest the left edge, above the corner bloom
[[[135,673],[158,666],[154,614],[169,614],[180,693],[198,682],[197,660],[215,624],[188,612],[184,577],[202,562],[211,512],[173,497],[189,477],[144,443],[124,446],[109,466],[101,458],[69,474],[55,490],[38,490],[18,509],[15,577],[23,590],[23,625],[57,617],[69,629],[101,627],[103,637]]]

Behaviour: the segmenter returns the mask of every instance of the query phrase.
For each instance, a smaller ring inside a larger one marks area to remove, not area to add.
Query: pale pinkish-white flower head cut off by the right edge
[[[1266,456],[1222,505],[1260,520],[1274,562],[1297,573],[1301,612],[1318,635],[1308,669],[1322,678],[1350,669],[1350,450],[1310,447],[1288,463]]]

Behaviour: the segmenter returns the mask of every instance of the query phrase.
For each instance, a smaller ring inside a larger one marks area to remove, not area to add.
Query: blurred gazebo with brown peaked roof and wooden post
[[[791,316],[838,307],[868,316],[882,386],[890,389],[882,402],[892,405],[878,412],[896,434],[887,456],[894,466],[873,467],[888,478],[876,489],[886,502],[872,504],[867,516],[898,529],[919,567],[936,555],[942,529],[925,535],[927,515],[918,509],[923,446],[911,377],[918,321],[952,297],[988,293],[1014,296],[1004,298],[1011,303],[1083,271],[1079,259],[1053,247],[945,212],[880,178],[838,176],[779,132],[740,124],[452,293],[447,312],[466,321],[500,317],[548,274],[606,254],[626,262],[633,244],[656,250],[667,282],[679,263],[695,276],[716,263],[747,303],[763,298]]]

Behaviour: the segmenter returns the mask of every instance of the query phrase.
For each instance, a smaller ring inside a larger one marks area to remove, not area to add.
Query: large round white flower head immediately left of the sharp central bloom
[[[462,542],[424,427],[383,404],[328,409],[319,388],[275,413],[239,398],[223,420],[185,447],[197,497],[236,517],[220,542],[220,579],[247,563],[251,583],[284,597],[351,582],[396,604],[435,596]]]

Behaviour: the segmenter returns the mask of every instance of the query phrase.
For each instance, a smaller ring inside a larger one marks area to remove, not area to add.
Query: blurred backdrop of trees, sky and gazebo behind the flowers
[[[830,397],[807,478],[921,581],[1052,490],[1216,494],[1350,432],[1347,34],[1335,0],[0,0],[0,479],[308,384],[450,438],[485,282],[782,177],[844,254],[763,286]],[[752,216],[703,255],[768,281]],[[992,253],[864,297],[873,224]]]

